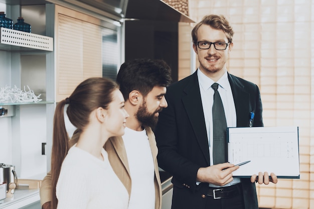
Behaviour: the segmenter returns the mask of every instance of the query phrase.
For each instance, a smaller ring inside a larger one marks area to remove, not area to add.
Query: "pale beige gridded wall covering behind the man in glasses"
[[[264,125],[299,126],[300,179],[256,184],[259,206],[314,208],[314,1],[189,0],[189,5],[196,22],[211,13],[231,22],[234,47],[227,68],[259,86]],[[179,24],[179,47],[189,47],[193,26]],[[180,78],[190,73],[190,51],[179,50]]]

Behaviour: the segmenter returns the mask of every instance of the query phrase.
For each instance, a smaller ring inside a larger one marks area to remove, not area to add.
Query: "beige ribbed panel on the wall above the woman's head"
[[[56,101],[84,79],[102,76],[100,21],[56,5]]]

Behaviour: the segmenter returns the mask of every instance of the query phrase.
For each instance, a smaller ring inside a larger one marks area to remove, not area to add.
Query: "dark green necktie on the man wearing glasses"
[[[215,90],[213,103],[213,160],[214,164],[227,160],[226,116],[224,106],[218,92],[218,83],[212,84]]]

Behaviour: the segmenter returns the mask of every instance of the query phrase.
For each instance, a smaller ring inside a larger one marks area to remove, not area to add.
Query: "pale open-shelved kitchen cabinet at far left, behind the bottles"
[[[24,2],[25,3],[25,2]],[[38,103],[0,102],[15,111],[10,117],[1,117],[4,127],[0,141],[0,161],[16,166],[19,177],[38,176],[47,170],[47,156],[42,155],[42,143],[52,134],[51,122],[55,107],[53,37],[46,32],[45,4],[29,7],[19,1],[0,1],[0,10],[16,22],[24,16],[32,33],[1,28],[0,37],[0,87],[27,89],[41,94]],[[39,34],[40,33],[40,34]],[[5,108],[6,108],[5,107]],[[10,112],[9,112],[10,113]],[[51,136],[50,136],[51,137]]]

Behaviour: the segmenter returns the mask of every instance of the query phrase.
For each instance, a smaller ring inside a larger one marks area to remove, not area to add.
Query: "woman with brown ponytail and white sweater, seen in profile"
[[[72,147],[64,122],[65,107],[80,132]],[[128,192],[112,170],[103,146],[109,137],[124,134],[128,116],[118,85],[102,77],[84,80],[58,102],[51,160],[52,208],[127,208]]]

